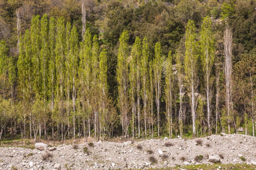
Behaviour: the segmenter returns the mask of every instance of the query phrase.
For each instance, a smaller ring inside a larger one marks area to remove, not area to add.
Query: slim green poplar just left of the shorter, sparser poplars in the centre
[[[155,45],[155,58],[153,60],[154,70],[154,86],[156,92],[156,107],[157,107],[157,136],[160,136],[160,98],[161,98],[161,76],[162,76],[162,50],[159,42]]]

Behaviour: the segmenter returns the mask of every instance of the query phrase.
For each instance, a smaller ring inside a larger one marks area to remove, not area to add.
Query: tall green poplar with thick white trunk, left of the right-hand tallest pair
[[[195,127],[195,110],[196,110],[196,101],[195,101],[195,90],[196,90],[196,60],[197,55],[195,54],[195,24],[193,21],[189,20],[186,27],[186,42],[185,42],[185,59],[184,59],[184,68],[186,74],[186,80],[189,85],[190,99],[191,99],[191,115],[192,115],[192,127],[193,127],[193,136],[195,136],[196,127]]]

